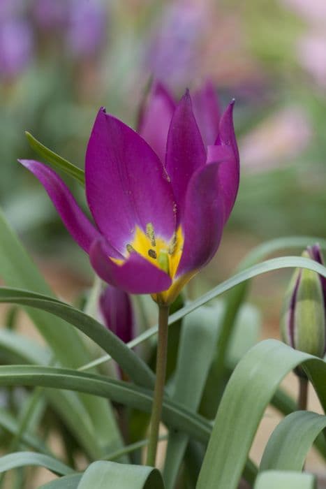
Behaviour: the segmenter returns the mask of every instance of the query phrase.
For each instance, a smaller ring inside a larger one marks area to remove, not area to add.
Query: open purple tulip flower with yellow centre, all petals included
[[[175,108],[162,87],[156,87],[153,97],[158,105],[153,116],[157,133],[151,132],[156,152],[146,142],[149,132],[144,133],[151,105],[141,121],[144,138],[103,108],[98,112],[85,168],[87,202],[96,226],[53,170],[38,161],[21,163],[44,185],[105,282],[170,304],[218,248],[237,196],[239,154],[233,102],[218,127],[211,128],[217,136],[206,148],[188,91]],[[208,109],[204,104],[202,110]]]

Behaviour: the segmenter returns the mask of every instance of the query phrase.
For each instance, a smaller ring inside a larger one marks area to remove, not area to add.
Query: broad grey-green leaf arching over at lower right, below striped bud
[[[197,489],[237,488],[267,404],[283,377],[302,363],[325,409],[326,363],[323,360],[276,340],[253,346],[240,360],[218,408]],[[232,457],[225,458],[225,453],[232,453]]]

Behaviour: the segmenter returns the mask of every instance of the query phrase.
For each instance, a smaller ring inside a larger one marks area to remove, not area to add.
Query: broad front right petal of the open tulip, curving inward
[[[223,231],[223,195],[219,191],[219,163],[198,169],[188,185],[184,219],[184,249],[176,277],[200,270],[212,259]]]

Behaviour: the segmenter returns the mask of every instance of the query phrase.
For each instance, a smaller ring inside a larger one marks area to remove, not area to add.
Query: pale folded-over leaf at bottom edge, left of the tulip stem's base
[[[164,489],[158,469],[145,465],[94,462],[84,472],[78,489]]]

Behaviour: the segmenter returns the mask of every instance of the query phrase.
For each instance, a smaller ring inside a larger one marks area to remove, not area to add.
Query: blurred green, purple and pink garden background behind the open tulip
[[[24,131],[82,167],[98,107],[135,126],[152,76],[176,96],[210,78],[222,106],[236,98],[228,243],[325,237],[325,0],[1,0],[0,204],[29,249],[82,258],[16,162],[37,159]]]

